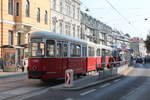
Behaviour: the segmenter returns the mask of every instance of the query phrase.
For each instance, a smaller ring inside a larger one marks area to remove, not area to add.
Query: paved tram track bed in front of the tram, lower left
[[[60,83],[62,82],[43,83],[40,80],[28,79],[26,74],[0,78],[0,100],[21,100],[18,97],[38,95],[35,94],[37,91],[43,93],[48,91],[47,88]]]

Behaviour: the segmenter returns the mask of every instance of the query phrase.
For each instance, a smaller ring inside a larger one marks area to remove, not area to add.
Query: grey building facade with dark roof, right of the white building
[[[96,44],[107,45],[107,35],[111,28],[92,16],[81,12],[81,37]]]

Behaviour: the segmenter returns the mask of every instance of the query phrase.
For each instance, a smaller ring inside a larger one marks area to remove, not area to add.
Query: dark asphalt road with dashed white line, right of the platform
[[[150,64],[136,64],[128,76],[80,91],[48,90],[24,100],[150,100]]]

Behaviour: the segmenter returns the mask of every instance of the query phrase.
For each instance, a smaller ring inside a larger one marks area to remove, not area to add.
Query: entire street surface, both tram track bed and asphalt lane
[[[26,76],[0,80],[0,100],[150,100],[150,64],[136,64],[126,77],[78,91],[51,90],[54,84]]]

